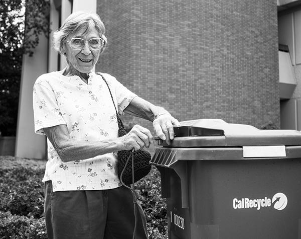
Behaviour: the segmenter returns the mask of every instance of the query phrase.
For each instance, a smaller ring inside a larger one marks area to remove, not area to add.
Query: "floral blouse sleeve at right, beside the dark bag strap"
[[[106,74],[108,75],[108,74]],[[120,115],[123,114],[123,110],[129,105],[134,97],[137,95],[128,90],[125,86],[123,86],[117,79],[111,75],[108,75],[110,78],[110,85],[113,89],[115,89],[115,95],[118,105],[118,113]],[[107,78],[107,77],[106,77]]]

